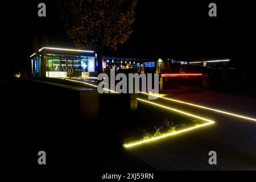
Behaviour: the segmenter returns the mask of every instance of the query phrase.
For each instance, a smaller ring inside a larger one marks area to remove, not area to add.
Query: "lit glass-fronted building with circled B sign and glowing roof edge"
[[[34,77],[97,75],[97,54],[94,51],[43,47],[30,58]]]

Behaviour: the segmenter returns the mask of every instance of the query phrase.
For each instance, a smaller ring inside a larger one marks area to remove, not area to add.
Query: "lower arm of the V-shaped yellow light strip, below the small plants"
[[[197,126],[189,127],[188,129],[184,129],[184,130],[180,130],[180,131],[175,131],[175,132],[172,132],[172,133],[167,133],[167,134],[161,135],[159,137],[153,137],[153,138],[150,138],[150,139],[142,140],[140,142],[124,144],[123,146],[126,147],[126,148],[133,147],[133,146],[138,146],[139,144],[142,144],[142,143],[148,143],[148,142],[151,142],[151,141],[154,141],[154,140],[158,140],[158,139],[161,139],[161,138],[170,137],[171,135],[177,135],[177,134],[180,134],[180,133],[184,133],[185,131],[195,130],[195,129],[198,129],[199,127],[203,127],[203,126],[207,126],[207,125],[212,125],[213,123],[214,122],[205,123],[205,124],[202,124],[202,125],[197,125]]]

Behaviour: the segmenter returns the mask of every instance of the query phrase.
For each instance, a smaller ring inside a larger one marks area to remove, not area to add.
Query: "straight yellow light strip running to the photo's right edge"
[[[229,112],[226,112],[226,111],[221,111],[221,110],[212,109],[212,108],[205,107],[205,106],[200,106],[200,105],[196,105],[196,104],[191,104],[191,103],[189,103],[189,102],[183,102],[183,101],[174,100],[174,99],[171,99],[171,98],[160,97],[160,96],[158,96],[158,95],[150,94],[150,93],[144,93],[144,92],[139,92],[139,93],[146,94],[146,95],[148,95],[148,96],[155,96],[155,97],[163,98],[163,99],[169,100],[169,101],[179,102],[179,103],[181,103],[181,104],[187,104],[187,105],[191,105],[191,106],[195,106],[195,107],[200,107],[200,108],[202,108],[202,109],[208,109],[208,110],[216,111],[216,112],[222,113],[222,114],[233,115],[234,117],[238,117],[238,118],[243,118],[243,119],[248,119],[248,120],[251,120],[251,121],[256,121],[256,119],[254,119],[254,118],[249,118],[249,117],[245,117],[245,116],[242,116],[242,115],[229,113]]]

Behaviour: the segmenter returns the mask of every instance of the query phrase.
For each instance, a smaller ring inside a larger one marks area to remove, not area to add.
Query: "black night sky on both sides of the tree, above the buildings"
[[[46,3],[46,18],[37,15],[40,2]],[[215,18],[208,16],[210,2],[217,4]],[[234,63],[239,60],[254,64],[255,12],[253,1],[138,0],[133,35],[119,46],[118,52],[105,54],[175,59],[231,57]],[[2,14],[5,45],[15,48],[8,65],[11,69],[15,61],[18,68],[26,68],[34,51],[34,35],[48,32],[49,46],[73,47],[55,1],[9,2]]]

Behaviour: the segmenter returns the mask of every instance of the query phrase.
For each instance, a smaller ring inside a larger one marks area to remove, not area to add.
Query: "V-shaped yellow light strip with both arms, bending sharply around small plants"
[[[189,127],[188,129],[184,129],[184,130],[180,130],[180,131],[175,131],[173,133],[168,133],[168,134],[164,134],[164,135],[161,135],[159,137],[153,137],[153,138],[150,138],[150,139],[146,139],[146,140],[142,140],[140,142],[134,142],[134,143],[130,143],[130,144],[124,144],[123,146],[126,147],[126,148],[129,148],[129,147],[133,147],[133,146],[137,146],[138,144],[142,144],[142,143],[147,143],[147,142],[151,142],[153,140],[158,140],[158,139],[161,139],[161,138],[166,138],[166,137],[169,137],[171,135],[177,135],[177,134],[180,134],[180,133],[183,133],[185,131],[189,131],[189,130],[195,130],[199,127],[203,127],[203,126],[207,126],[207,125],[211,125],[214,123],[214,121],[212,120],[209,120],[209,119],[205,119],[205,118],[201,118],[197,115],[193,115],[193,114],[190,114],[190,113],[186,113],[184,111],[180,111],[180,110],[177,110],[177,109],[172,109],[171,107],[167,107],[167,106],[163,106],[163,105],[160,105],[160,104],[156,104],[154,102],[150,102],[150,101],[146,101],[146,100],[142,100],[140,98],[137,98],[137,100],[139,101],[142,101],[142,102],[147,102],[148,104],[152,104],[152,105],[156,105],[156,106],[159,106],[159,107],[163,107],[165,109],[169,109],[169,110],[173,110],[173,111],[176,111],[177,113],[182,113],[182,114],[185,114],[185,115],[189,115],[191,117],[194,117],[194,118],[199,118],[203,121],[207,121],[208,123],[205,123],[205,124],[202,124],[202,125],[198,125],[198,126],[193,126],[193,127]]]

